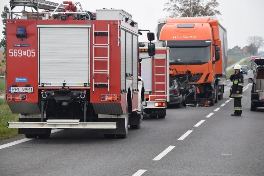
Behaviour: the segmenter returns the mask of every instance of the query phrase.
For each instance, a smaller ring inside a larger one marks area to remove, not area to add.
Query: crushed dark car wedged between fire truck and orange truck
[[[181,95],[180,86],[178,81],[173,78],[169,78],[169,102],[168,107],[180,108],[183,96]]]

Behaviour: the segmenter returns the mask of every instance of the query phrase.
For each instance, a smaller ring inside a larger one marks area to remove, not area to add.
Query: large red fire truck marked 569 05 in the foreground
[[[106,138],[126,138],[128,125],[141,127],[140,32],[131,14],[115,9],[93,14],[68,1],[10,5],[6,99],[19,121],[8,122],[9,128],[26,138],[49,138],[52,128],[102,129]],[[37,12],[18,15],[16,6]],[[154,33],[147,35],[154,40]],[[155,55],[155,44],[148,47]]]

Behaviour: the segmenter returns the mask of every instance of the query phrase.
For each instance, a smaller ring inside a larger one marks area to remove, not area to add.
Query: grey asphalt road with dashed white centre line
[[[0,175],[263,176],[264,108],[250,111],[251,74],[244,75],[241,117],[230,116],[229,82],[215,106],[170,108],[165,119],[145,116],[126,139],[85,129],[1,141]]]

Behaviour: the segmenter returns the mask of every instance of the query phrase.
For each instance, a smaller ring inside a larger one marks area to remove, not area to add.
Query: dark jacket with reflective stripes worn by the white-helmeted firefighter
[[[230,87],[230,98],[242,98],[243,86],[244,86],[244,76],[242,72],[238,74],[231,75],[230,80],[233,82],[233,85]],[[236,91],[239,91],[237,94]]]

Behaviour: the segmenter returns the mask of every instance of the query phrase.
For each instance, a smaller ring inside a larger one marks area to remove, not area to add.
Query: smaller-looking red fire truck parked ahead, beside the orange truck
[[[141,77],[144,80],[146,98],[144,112],[150,118],[165,118],[166,104],[169,102],[169,48],[166,47],[166,42],[154,43],[156,55],[151,57],[147,57],[148,42],[139,44]]]

